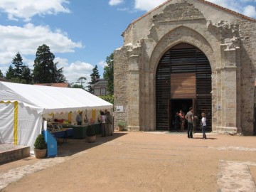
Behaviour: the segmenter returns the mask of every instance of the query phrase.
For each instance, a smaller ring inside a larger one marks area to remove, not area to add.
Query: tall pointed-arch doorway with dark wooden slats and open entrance
[[[211,131],[211,69],[206,55],[198,48],[180,43],[159,60],[156,70],[156,130],[174,130],[174,115],[179,110],[207,117]],[[197,121],[197,127],[200,121]],[[186,129],[186,128],[185,128]]]

